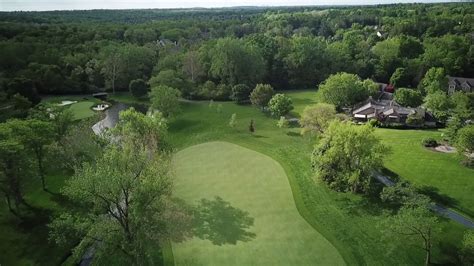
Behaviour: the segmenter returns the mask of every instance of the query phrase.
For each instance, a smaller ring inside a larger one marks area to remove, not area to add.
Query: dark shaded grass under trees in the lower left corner
[[[49,241],[47,224],[52,216],[61,212],[66,202],[58,195],[60,187],[70,173],[50,173],[47,178],[49,192],[41,189],[41,182],[30,178],[25,187],[25,200],[32,206],[18,218],[0,203],[0,264],[1,265],[60,265],[71,246],[57,246]]]

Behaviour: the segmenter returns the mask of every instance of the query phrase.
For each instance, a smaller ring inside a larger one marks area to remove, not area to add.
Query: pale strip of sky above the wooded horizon
[[[450,0],[0,0],[0,11],[191,8],[231,6],[372,5]]]

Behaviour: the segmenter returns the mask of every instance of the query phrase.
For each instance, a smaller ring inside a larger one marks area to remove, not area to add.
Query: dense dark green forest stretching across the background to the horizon
[[[0,101],[128,90],[137,79],[188,98],[229,99],[239,84],[315,88],[338,72],[415,88],[431,67],[472,76],[472,10],[457,3],[1,13]]]

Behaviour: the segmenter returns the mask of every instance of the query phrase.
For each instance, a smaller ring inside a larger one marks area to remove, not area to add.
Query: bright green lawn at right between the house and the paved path
[[[385,166],[434,199],[474,217],[474,169],[460,164],[457,154],[440,153],[421,145],[424,138],[441,139],[440,130],[377,129],[377,135],[391,148]]]

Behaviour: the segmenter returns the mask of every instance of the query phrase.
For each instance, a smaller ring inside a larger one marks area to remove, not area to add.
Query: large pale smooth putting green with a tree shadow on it
[[[174,195],[196,206],[195,237],[173,243],[176,265],[344,265],[298,213],[283,168],[227,142],[178,152]]]

